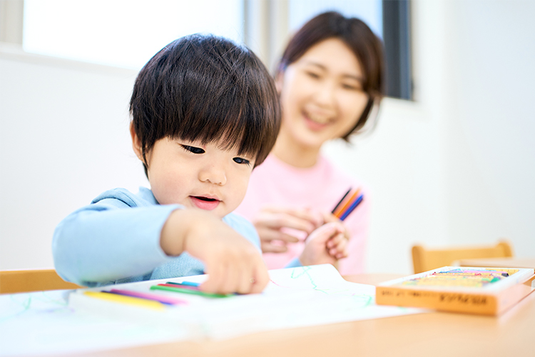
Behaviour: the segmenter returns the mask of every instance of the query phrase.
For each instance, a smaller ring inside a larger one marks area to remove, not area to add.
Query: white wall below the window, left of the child
[[[108,188],[146,184],[128,134],[136,72],[8,49],[0,56],[0,269],[51,267],[62,218]]]

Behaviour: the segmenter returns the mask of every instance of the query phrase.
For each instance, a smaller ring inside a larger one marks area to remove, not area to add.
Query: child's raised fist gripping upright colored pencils
[[[338,259],[347,256],[347,238],[345,227],[340,221],[325,223],[310,233],[305,242],[300,262],[304,266],[315,264],[334,264]]]

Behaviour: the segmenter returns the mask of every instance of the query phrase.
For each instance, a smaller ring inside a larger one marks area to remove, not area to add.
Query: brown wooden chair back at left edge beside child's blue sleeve
[[[82,288],[64,281],[54,269],[0,271],[0,293]]]

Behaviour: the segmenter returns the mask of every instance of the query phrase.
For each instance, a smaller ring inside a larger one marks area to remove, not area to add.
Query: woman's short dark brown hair
[[[347,18],[335,11],[325,12],[310,19],[292,37],[277,68],[277,74],[305,54],[310,47],[327,39],[340,39],[357,57],[364,82],[362,89],[368,95],[367,106],[357,124],[342,136],[345,141],[354,132],[360,131],[370,118],[374,106],[384,95],[384,62],[381,40],[359,19]]]

